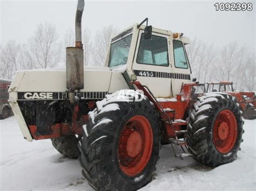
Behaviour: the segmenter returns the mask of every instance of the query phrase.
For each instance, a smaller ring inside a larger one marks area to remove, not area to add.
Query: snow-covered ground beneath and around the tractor
[[[237,160],[215,169],[174,158],[171,146],[163,146],[155,180],[142,190],[255,190],[255,122],[245,120]],[[92,190],[77,160],[62,157],[50,140],[24,140],[14,117],[0,121],[0,132],[0,190]]]

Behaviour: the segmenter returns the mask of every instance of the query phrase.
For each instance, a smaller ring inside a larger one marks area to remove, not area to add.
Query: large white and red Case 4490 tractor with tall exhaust
[[[51,138],[60,153],[79,158],[97,190],[147,185],[160,142],[179,158],[181,147],[212,167],[237,158],[244,132],[239,105],[225,93],[195,93],[183,33],[153,28],[146,18],[112,37],[105,67],[83,68],[83,8],[78,1],[66,70],[19,71],[9,88],[26,140]]]

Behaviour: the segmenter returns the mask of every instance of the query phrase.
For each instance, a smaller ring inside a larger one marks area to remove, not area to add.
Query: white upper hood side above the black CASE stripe
[[[81,91],[107,92],[111,76],[112,72],[108,67],[85,67],[84,89]],[[119,85],[122,86],[122,84]],[[18,71],[10,87],[10,92],[64,92],[66,90],[65,69]]]

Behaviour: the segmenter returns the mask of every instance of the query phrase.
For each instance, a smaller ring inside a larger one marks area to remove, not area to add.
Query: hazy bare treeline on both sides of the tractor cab
[[[117,32],[113,25],[95,34],[89,29],[83,30],[85,66],[103,66],[110,38]],[[26,44],[10,40],[0,47],[0,77],[12,79],[16,70],[65,67],[65,47],[74,44],[75,31],[72,29],[60,36],[55,25],[39,24]],[[192,76],[198,81],[233,81],[235,90],[256,89],[255,55],[245,45],[231,42],[217,47],[196,38],[186,50]]]

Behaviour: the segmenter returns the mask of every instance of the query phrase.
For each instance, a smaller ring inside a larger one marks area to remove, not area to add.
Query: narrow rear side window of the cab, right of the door
[[[187,59],[183,43],[179,40],[173,40],[174,63],[176,68],[188,68]]]

